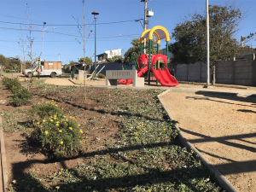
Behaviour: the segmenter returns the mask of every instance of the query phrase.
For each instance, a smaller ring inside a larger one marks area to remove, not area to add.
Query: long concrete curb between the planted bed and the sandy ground
[[[166,93],[168,93],[170,90],[166,90],[165,92],[162,92],[160,95],[157,96],[157,98],[159,99],[162,107],[165,109],[169,119],[172,119],[172,116],[170,115],[170,113],[168,113],[168,111],[166,110],[166,107],[164,106],[163,102],[160,100],[160,96],[165,95]],[[211,91],[212,92],[212,91]],[[210,172],[214,175],[214,177],[217,179],[219,185],[229,191],[229,192],[238,192],[238,190],[230,183],[230,181],[228,179],[226,179],[220,172],[218,172],[218,169],[215,166],[212,166],[212,164],[191,144],[189,143],[189,141],[186,139],[186,137],[183,136],[183,132],[180,131],[180,129],[177,127],[177,125],[175,125],[175,128],[178,132],[178,139],[180,140],[180,142],[182,143],[182,145],[188,149],[191,149],[195,152],[196,156],[199,157],[199,159],[203,162],[203,164],[205,166],[207,166],[207,168],[210,170]]]

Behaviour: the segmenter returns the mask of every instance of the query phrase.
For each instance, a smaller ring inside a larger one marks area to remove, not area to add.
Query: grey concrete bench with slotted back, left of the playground
[[[119,79],[132,79],[134,87],[144,87],[144,78],[137,77],[137,70],[107,70],[106,85],[117,85]]]

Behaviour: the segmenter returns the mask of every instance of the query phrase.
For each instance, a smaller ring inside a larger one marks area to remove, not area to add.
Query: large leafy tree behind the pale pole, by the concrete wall
[[[215,66],[218,61],[230,61],[241,48],[234,38],[243,15],[235,6],[209,5],[210,67],[215,84]],[[189,15],[172,32],[176,42],[169,45],[173,64],[207,62],[207,28],[205,15]]]

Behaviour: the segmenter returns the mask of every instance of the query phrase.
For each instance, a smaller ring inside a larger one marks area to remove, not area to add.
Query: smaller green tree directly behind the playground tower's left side
[[[135,61],[137,61],[138,57],[141,55],[140,39],[139,38],[132,39],[131,44],[132,44],[132,47],[125,52],[125,62],[129,62],[131,53],[133,53]],[[149,42],[147,40],[146,46],[148,46],[148,45],[149,45]],[[155,46],[154,41],[152,42],[151,46],[152,46],[151,47],[151,54],[156,54],[156,48],[154,47]],[[134,52],[132,52],[132,51],[134,51]],[[146,49],[146,53],[148,53],[148,48]]]

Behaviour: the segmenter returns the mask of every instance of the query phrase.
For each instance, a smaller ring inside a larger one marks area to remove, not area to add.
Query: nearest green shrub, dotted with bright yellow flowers
[[[52,150],[58,157],[72,155],[78,152],[85,141],[80,134],[79,125],[73,117],[67,118],[62,113],[56,113],[48,119],[36,123],[36,129],[32,136],[42,143],[42,147]]]

